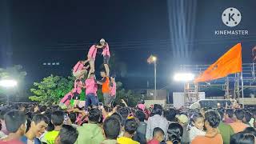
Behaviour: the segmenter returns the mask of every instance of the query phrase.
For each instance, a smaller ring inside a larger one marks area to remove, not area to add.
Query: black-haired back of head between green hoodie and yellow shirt
[[[107,139],[117,139],[121,131],[121,123],[117,118],[106,118],[103,123],[103,130]]]

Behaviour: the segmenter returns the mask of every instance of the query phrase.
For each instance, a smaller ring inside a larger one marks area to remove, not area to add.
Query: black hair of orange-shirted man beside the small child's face
[[[205,114],[205,122],[209,122],[210,126],[213,128],[217,128],[219,122],[221,122],[221,117],[215,110],[207,110]]]

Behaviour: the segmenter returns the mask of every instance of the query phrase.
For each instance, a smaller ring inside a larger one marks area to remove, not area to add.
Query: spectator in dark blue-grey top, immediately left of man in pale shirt
[[[136,134],[134,135],[134,141],[140,142],[141,144],[146,144],[146,122],[144,122],[146,114],[138,110],[135,115],[139,120],[139,125],[138,129],[136,130]]]

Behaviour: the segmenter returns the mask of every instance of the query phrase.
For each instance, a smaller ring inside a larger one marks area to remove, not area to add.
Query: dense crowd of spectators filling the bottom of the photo
[[[144,105],[143,103],[139,101],[138,105]],[[242,144],[254,143],[256,136],[254,129],[256,110],[250,109],[177,110],[163,108],[159,104],[154,104],[152,110],[148,108],[142,110],[138,106],[117,106],[112,110],[105,106],[103,109],[95,107],[87,111],[82,108],[65,111],[56,106],[31,108],[26,105],[18,107],[18,110],[14,109],[14,107],[0,109],[1,132],[6,134],[1,138],[6,142],[20,137],[22,142],[24,139],[24,142],[28,142],[34,138],[34,142],[56,144],[76,142],[197,144],[207,143],[206,140],[211,139],[216,143]],[[223,130],[229,132],[223,133]],[[194,135],[191,137],[190,134]],[[47,139],[49,137],[52,141]]]

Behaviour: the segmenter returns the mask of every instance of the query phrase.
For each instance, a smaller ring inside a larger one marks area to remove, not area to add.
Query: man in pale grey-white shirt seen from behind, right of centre
[[[146,126],[147,141],[150,141],[150,139],[153,138],[153,130],[156,127],[160,127],[165,132],[165,135],[167,134],[168,121],[166,118],[162,117],[162,106],[155,104],[152,112],[154,113],[154,116],[148,119]]]

